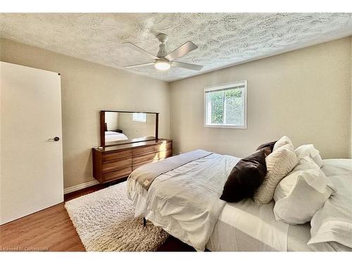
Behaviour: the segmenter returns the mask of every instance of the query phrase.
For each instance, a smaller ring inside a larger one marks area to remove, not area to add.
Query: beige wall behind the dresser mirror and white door
[[[61,73],[64,187],[93,180],[91,148],[100,144],[101,109],[160,112],[160,135],[170,137],[167,82],[8,39],[0,39],[0,60]]]

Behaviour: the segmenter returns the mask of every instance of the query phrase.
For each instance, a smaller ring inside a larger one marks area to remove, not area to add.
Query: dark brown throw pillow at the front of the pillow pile
[[[264,180],[265,157],[268,151],[270,151],[270,146],[242,158],[227,177],[220,199],[233,203],[251,197]]]

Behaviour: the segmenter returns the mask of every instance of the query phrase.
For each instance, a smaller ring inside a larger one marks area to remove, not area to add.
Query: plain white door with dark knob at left
[[[0,84],[2,225],[63,201],[63,151],[60,75],[0,62]]]

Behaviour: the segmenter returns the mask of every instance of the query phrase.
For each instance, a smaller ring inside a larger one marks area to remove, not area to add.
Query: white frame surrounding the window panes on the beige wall
[[[242,88],[239,88],[241,86],[244,86]],[[208,118],[208,113],[207,113],[207,101],[206,101],[206,92],[209,91],[216,91],[216,90],[221,90],[221,89],[227,89],[227,88],[234,88],[234,89],[243,89],[244,91],[244,125],[225,125],[225,124],[216,124],[216,125],[209,125],[206,123],[206,120]],[[247,80],[242,80],[238,82],[228,82],[225,84],[219,84],[219,85],[213,85],[213,86],[208,86],[204,87],[204,127],[220,127],[220,128],[234,128],[234,129],[239,129],[239,130],[246,130],[247,129]]]

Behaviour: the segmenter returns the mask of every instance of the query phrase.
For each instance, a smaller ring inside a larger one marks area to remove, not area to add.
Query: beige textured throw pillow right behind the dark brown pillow
[[[253,195],[256,203],[270,203],[274,196],[275,188],[280,180],[291,172],[297,164],[297,157],[292,144],[280,146],[265,158],[267,173],[263,183]]]

